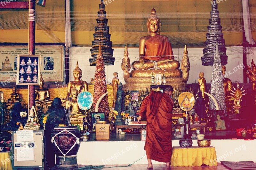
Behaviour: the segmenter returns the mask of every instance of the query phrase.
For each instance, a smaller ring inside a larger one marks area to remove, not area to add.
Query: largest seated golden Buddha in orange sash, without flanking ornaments
[[[150,77],[154,69],[165,70],[167,77],[181,77],[180,63],[174,60],[168,37],[158,34],[160,26],[160,19],[153,8],[147,21],[149,35],[140,38],[140,58],[132,63],[132,77]]]

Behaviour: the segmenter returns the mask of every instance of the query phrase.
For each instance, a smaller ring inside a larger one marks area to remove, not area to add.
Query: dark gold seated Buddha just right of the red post
[[[35,89],[34,95],[35,95],[35,99],[37,97],[37,99],[35,100],[36,105],[41,105],[44,102],[46,102],[48,106],[51,106],[52,100],[50,100],[50,91],[48,88],[44,87],[44,79],[42,77],[42,74],[40,75],[39,88]]]

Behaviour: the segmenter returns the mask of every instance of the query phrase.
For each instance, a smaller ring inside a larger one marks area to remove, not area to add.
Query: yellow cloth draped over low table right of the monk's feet
[[[202,164],[208,166],[218,165],[214,147],[172,147],[171,166],[201,166]]]

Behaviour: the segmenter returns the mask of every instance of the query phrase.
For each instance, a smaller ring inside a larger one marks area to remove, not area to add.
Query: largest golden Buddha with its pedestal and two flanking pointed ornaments
[[[125,90],[138,90],[151,85],[152,77],[156,74],[164,76],[166,84],[182,89],[188,81],[190,69],[187,47],[181,61],[174,59],[171,42],[167,36],[160,35],[160,19],[153,8],[147,21],[149,35],[143,36],[139,41],[139,61],[132,63],[132,71],[129,72],[128,51],[125,48],[122,61],[124,70]],[[181,67],[180,67],[181,66]],[[180,68],[180,69],[179,69]]]

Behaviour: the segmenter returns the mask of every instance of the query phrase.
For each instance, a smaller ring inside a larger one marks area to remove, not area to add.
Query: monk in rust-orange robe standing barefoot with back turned
[[[148,169],[153,168],[151,160],[165,162],[170,166],[172,156],[172,86],[166,85],[164,91],[151,91],[140,107],[140,116],[147,119],[147,135],[144,150],[148,158]]]

